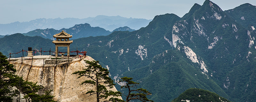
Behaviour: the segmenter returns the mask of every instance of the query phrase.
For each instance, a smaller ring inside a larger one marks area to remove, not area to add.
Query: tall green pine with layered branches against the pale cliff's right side
[[[94,86],[96,86],[96,90],[90,90],[87,91],[86,94],[90,94],[89,96],[96,94],[97,96],[97,102],[100,102],[101,98],[108,98],[108,96],[114,96],[114,97],[118,97],[121,96],[121,92],[117,91],[108,91],[107,90],[107,86],[109,88],[113,88],[114,87],[114,81],[108,77],[108,69],[102,68],[101,65],[99,64],[99,61],[87,61],[84,60],[88,66],[85,66],[86,68],[83,69],[82,71],[76,71],[73,74],[77,74],[79,75],[77,78],[80,77],[88,77],[91,78],[91,80],[85,80],[84,82],[82,82],[80,85],[83,84],[92,84]],[[103,101],[103,102],[108,102],[108,101],[112,101],[112,102],[124,102],[121,99],[118,98],[110,98],[107,101]]]

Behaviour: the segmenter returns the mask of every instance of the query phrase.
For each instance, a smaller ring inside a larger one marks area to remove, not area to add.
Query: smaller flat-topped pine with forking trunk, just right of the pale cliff
[[[147,98],[147,95],[151,95],[151,93],[148,92],[146,89],[137,89],[137,85],[140,83],[133,82],[131,77],[122,77],[118,83],[120,82],[125,82],[125,85],[121,86],[121,89],[124,87],[128,88],[129,90],[128,95],[123,94],[124,96],[126,96],[126,102],[134,99],[140,100],[142,102],[154,102]]]

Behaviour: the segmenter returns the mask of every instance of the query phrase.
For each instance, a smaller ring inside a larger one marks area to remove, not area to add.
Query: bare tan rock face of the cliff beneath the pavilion
[[[46,59],[50,59],[50,55],[23,57],[11,60],[11,64],[14,64],[14,68],[17,70],[16,74],[19,77],[23,77],[24,80],[31,82],[37,82],[38,85],[43,85],[44,89],[53,89],[52,95],[54,100],[58,102],[95,102],[96,94],[89,96],[85,94],[87,91],[95,89],[95,86],[91,84],[80,85],[85,80],[90,80],[87,77],[77,78],[78,75],[72,73],[85,68],[86,63],[84,60],[93,61],[90,56],[73,57],[72,62],[62,62],[56,64],[44,64]],[[32,66],[31,66],[32,64]],[[107,87],[107,89],[109,89]],[[109,89],[117,91],[116,88]],[[41,93],[39,91],[39,93]],[[121,97],[118,97],[122,99]],[[104,101],[107,99],[101,99]]]

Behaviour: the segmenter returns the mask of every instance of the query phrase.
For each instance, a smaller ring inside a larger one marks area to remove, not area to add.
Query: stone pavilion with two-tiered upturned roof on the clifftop
[[[64,32],[63,30],[60,33],[53,35],[56,40],[52,41],[55,44],[55,57],[58,57],[58,47],[68,47],[68,56],[69,56],[69,45],[73,42],[73,40],[69,40],[72,38],[72,35]]]

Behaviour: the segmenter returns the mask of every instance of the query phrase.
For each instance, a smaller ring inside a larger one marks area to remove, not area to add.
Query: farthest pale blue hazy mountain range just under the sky
[[[28,33],[35,29],[61,29],[70,28],[76,24],[88,23],[93,27],[101,27],[109,31],[122,26],[129,26],[132,29],[138,30],[145,27],[151,20],[141,18],[124,18],[121,16],[103,16],[99,15],[94,18],[39,18],[29,22],[13,22],[10,24],[0,24],[0,35],[14,34],[14,33]]]

